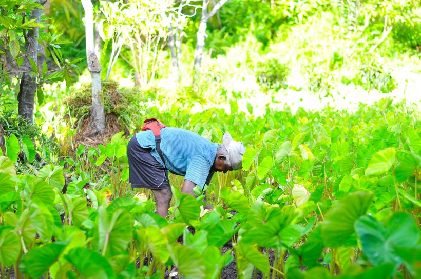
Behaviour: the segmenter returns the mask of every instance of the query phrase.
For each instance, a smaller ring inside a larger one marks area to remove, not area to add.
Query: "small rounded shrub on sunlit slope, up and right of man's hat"
[[[289,67],[280,63],[278,59],[259,61],[256,69],[256,81],[265,89],[279,90],[287,87],[285,82],[289,72]]]

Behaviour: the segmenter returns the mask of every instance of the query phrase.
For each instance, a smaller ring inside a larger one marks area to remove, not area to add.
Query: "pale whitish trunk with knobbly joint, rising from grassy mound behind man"
[[[85,10],[86,58],[88,70],[92,77],[92,109],[89,120],[89,136],[95,136],[105,131],[105,110],[101,98],[101,65],[95,55],[93,36],[93,5],[90,0],[82,0]]]

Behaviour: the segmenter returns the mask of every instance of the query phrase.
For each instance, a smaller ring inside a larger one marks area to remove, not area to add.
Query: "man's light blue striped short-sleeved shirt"
[[[164,166],[156,149],[154,133],[150,130],[139,132],[136,138],[141,147],[151,148],[150,154]],[[166,127],[161,130],[160,148],[170,172],[184,176],[202,189],[205,184],[209,185],[214,175],[210,168],[215,162],[217,143],[188,130]]]

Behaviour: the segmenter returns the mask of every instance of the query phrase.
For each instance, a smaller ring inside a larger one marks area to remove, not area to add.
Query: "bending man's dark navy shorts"
[[[129,161],[129,182],[133,188],[162,190],[170,188],[164,167],[150,154],[150,148],[143,148],[136,135],[127,145]]]

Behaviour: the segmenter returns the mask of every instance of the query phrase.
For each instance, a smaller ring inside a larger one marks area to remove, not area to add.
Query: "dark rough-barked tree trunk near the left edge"
[[[44,5],[46,0],[37,0],[36,3]],[[35,22],[41,22],[41,9],[35,8],[29,14],[29,20],[35,19]],[[36,92],[36,79],[31,74],[33,71],[31,64],[29,63],[29,57],[36,63],[37,49],[38,49],[38,37],[40,35],[40,28],[34,27],[32,30],[28,30],[25,37],[25,52],[24,57],[24,73],[22,74],[21,86],[19,93],[17,94],[18,101],[18,112],[19,115],[24,117],[28,122],[33,122],[33,110],[35,107],[35,92]]]

